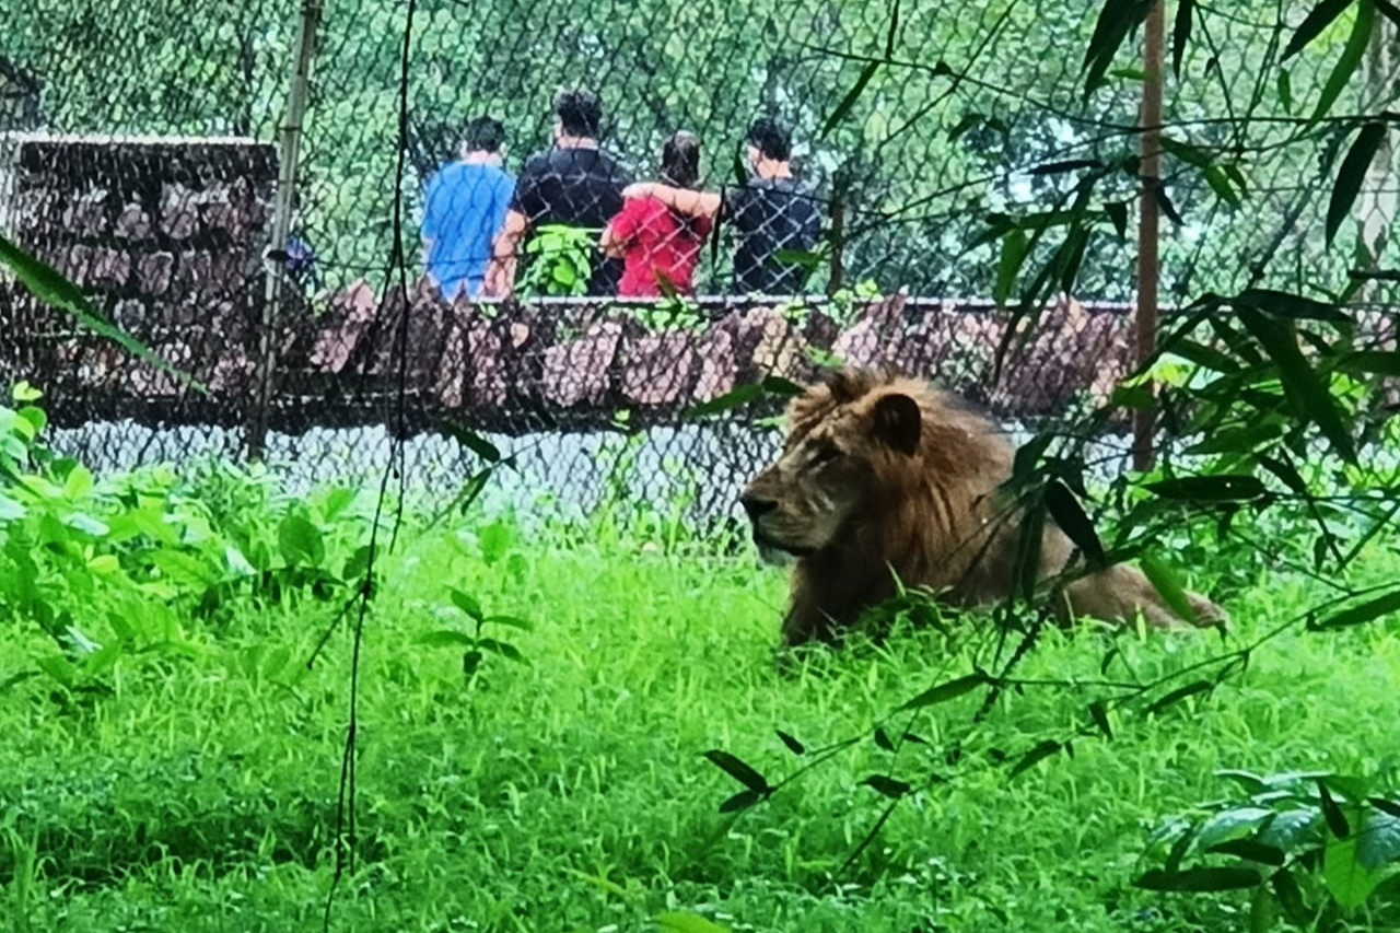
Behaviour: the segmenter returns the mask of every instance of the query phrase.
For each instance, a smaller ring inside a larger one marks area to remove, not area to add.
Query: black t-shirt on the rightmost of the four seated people
[[[778,262],[783,249],[809,251],[822,234],[816,198],[792,178],[755,178],[725,198],[728,221],[739,231],[734,289],[741,294],[797,294],[806,269]]]

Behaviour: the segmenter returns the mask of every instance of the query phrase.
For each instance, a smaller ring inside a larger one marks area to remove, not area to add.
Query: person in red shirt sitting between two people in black
[[[662,146],[661,179],[682,189],[693,189],[700,181],[700,140],[692,133],[675,133]],[[661,297],[671,290],[693,294],[696,263],[713,227],[711,216],[692,217],[651,196],[627,199],[601,241],[606,255],[623,261],[617,294],[624,298]]]

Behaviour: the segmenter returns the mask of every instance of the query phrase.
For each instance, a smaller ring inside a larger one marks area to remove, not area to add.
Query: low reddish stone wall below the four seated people
[[[1105,401],[1133,353],[1126,307],[1072,300],[1047,308],[1029,340],[1012,338],[1000,374],[993,361],[1009,315],[987,301],[896,294],[846,310],[825,301],[700,310],[706,319],[658,332],[622,303],[447,304],[423,280],[407,294],[393,287],[382,296],[357,283],[284,336],[283,416],[300,408],[307,426],[339,422],[344,412],[314,413],[330,385],[342,387],[340,398],[350,387],[391,394],[391,347],[405,315],[409,420],[427,426],[448,416],[503,433],[596,429],[620,409],[633,423],[672,422],[767,375],[813,378],[832,356],[935,380],[1000,415],[1056,416],[1085,392]]]

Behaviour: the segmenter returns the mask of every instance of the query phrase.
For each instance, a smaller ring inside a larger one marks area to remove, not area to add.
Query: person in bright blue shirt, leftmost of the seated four
[[[447,301],[482,291],[491,241],[505,223],[515,179],[501,168],[505,129],[477,116],[466,125],[462,157],[428,181],[423,199],[423,248],[428,277]]]

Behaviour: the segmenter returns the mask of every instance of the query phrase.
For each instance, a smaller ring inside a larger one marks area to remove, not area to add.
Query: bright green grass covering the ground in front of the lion
[[[930,747],[892,762],[861,741],[731,820],[717,808],[739,786],[706,749],[777,780],[802,759],[774,730],[809,748],[867,733],[966,672],[976,636],[923,632],[780,667],[784,581],[748,553],[561,535],[515,552],[487,566],[470,535],[435,532],[385,565],[364,628],[360,859],[332,929],[627,932],[679,909],[763,932],[1236,930],[1246,895],[1130,887],[1147,834],[1226,793],[1215,769],[1373,773],[1400,754],[1392,621],[1284,635],[1215,693],[1155,717],[1114,713],[1113,741],[1078,741],[1011,782],[993,749],[1065,734],[1102,691],[1008,693],[976,728],[980,692],[967,695],[913,720]],[[1378,559],[1362,573],[1396,570]],[[529,665],[490,657],[468,685],[459,650],[416,643],[456,623],[448,584],[533,621],[510,632]],[[1236,637],[1317,598],[1316,584],[1260,580],[1231,601]],[[41,678],[0,693],[0,929],[319,929],[349,629],[314,670],[302,661],[332,614],[307,601],[192,622],[195,657],[125,658],[111,696],[60,705]],[[14,632],[10,643],[0,682],[45,646]],[[1082,629],[1044,636],[1019,672],[1092,678],[1110,644],[1123,654],[1113,670],[1138,677],[1221,651],[1197,632]],[[925,751],[955,737],[967,749],[956,765]],[[872,773],[951,780],[906,799],[833,877],[885,803],[860,786]],[[27,853],[32,884],[15,873]]]

